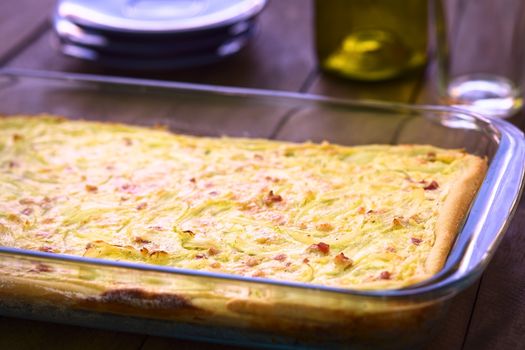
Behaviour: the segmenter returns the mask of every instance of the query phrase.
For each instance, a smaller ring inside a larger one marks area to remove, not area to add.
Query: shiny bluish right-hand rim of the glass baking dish
[[[512,124],[493,119],[500,131],[498,150],[480,188],[471,214],[477,220],[467,220],[464,230],[472,232],[472,239],[456,273],[464,275],[471,270],[481,272],[509,224],[507,218],[516,210],[523,190],[525,141],[523,133]]]

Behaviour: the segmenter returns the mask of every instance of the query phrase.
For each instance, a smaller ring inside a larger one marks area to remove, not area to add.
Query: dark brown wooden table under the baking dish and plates
[[[273,0],[260,17],[260,31],[240,54],[224,62],[175,72],[111,71],[63,57],[51,45],[52,0],[0,2],[0,66],[126,75],[309,92],[405,103],[434,102],[432,70],[377,84],[348,82],[319,72],[313,54],[312,4]],[[513,123],[523,129],[523,114]],[[525,203],[480,281],[461,293],[430,349],[525,348]],[[95,330],[0,317],[1,349],[221,349],[220,345],[143,334]]]

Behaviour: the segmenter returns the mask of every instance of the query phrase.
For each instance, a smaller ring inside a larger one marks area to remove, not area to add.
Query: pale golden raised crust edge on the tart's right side
[[[485,159],[466,155],[467,166],[450,186],[436,221],[436,240],[425,262],[425,272],[433,275],[445,264],[448,253],[487,171]]]

